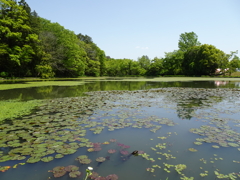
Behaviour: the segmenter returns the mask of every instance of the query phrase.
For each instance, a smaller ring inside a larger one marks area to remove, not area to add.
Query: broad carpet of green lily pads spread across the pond
[[[229,108],[228,111],[224,110],[223,107],[219,107],[219,109],[211,112],[212,114],[214,113],[213,118],[211,118],[211,114],[206,113],[206,109],[209,108],[211,103],[239,98],[239,89],[196,88],[193,90],[192,88],[160,88],[132,92],[89,92],[87,95],[84,97],[47,100],[33,114],[3,122],[0,125],[0,148],[3,149],[3,151],[0,151],[0,162],[10,160],[19,160],[27,163],[50,162],[55,158],[63,158],[65,155],[73,154],[82,147],[87,147],[88,152],[95,152],[101,150],[102,144],[109,144],[108,141],[92,143],[85,138],[88,131],[93,134],[100,134],[104,130],[114,131],[131,127],[148,128],[151,132],[157,133],[165,126],[177,125],[177,122],[167,117],[159,117],[147,113],[144,110],[146,107],[175,110],[179,110],[179,108],[191,109],[192,111],[189,115],[198,119],[204,119],[206,123],[209,123],[202,125],[200,128],[190,129],[190,132],[199,135],[199,138],[194,142],[196,145],[214,143],[212,144],[213,148],[228,146],[238,148],[240,145],[240,133],[233,130],[228,124],[229,121],[234,123],[239,123],[239,121],[217,116],[219,112],[227,114],[237,113],[238,107],[235,109]],[[197,103],[195,102],[196,99],[198,100]],[[188,104],[190,105],[188,106]],[[238,126],[235,127],[237,128]],[[159,137],[159,139],[164,141],[167,137]],[[116,142],[116,140],[112,139],[110,142]],[[130,154],[126,150],[130,146],[121,143],[117,143],[117,145],[120,147],[119,152],[122,155]],[[152,163],[162,159],[166,161],[174,160],[175,156],[166,151],[167,145],[167,142],[159,142],[155,147],[151,147],[156,154],[161,155],[158,159],[153,159],[149,157],[150,155],[144,152],[141,153],[141,151],[139,151],[139,155]],[[192,147],[188,150],[197,152],[197,149]],[[109,154],[115,152],[117,152],[116,149],[108,150]],[[77,160],[81,164],[91,163],[91,159],[86,157],[86,155],[78,157]],[[106,157],[96,159],[97,162],[105,160]],[[181,179],[187,179],[183,173],[184,169],[186,169],[184,164],[169,165],[166,162],[164,164],[162,162],[162,164],[155,164],[147,168],[147,171],[155,172],[155,169],[161,166],[165,168],[164,170],[167,173],[171,171],[171,168],[175,168],[177,173],[181,175]],[[65,171],[65,174],[69,172],[69,176],[70,173],[71,176],[74,174],[78,176],[77,170],[67,171],[65,168],[58,167],[53,170],[53,174],[57,177]],[[215,174],[218,178],[225,177],[219,171],[216,172]],[[207,171],[203,171],[200,174],[202,177],[207,175]],[[226,176],[230,178],[230,174]],[[99,177],[95,179],[97,178]]]

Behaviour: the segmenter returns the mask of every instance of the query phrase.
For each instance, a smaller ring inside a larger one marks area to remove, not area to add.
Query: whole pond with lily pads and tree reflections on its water
[[[1,180],[240,179],[239,82],[72,81],[0,90],[42,101],[1,122]]]

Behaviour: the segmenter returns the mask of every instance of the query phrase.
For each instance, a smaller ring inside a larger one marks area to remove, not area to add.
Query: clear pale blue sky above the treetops
[[[181,33],[225,53],[239,50],[240,0],[26,0],[40,17],[58,22],[115,58],[164,57]],[[238,54],[238,56],[240,56]]]

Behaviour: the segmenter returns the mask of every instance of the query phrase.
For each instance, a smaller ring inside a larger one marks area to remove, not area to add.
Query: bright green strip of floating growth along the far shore
[[[17,83],[9,84],[5,82]],[[80,78],[52,78],[52,79],[14,79],[0,80],[0,90],[31,88],[41,86],[78,86],[88,83],[88,81],[240,81],[240,77],[80,77]],[[2,83],[1,83],[2,82]]]

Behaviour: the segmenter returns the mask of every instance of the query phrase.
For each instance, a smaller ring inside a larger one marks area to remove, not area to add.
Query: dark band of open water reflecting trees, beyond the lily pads
[[[33,99],[52,99],[63,97],[84,96],[90,91],[111,90],[147,90],[163,87],[191,87],[191,88],[239,88],[239,82],[229,81],[187,81],[187,82],[134,82],[134,81],[91,81],[78,86],[42,86],[0,90],[0,100],[20,99],[23,101]],[[5,82],[10,83],[10,82]],[[24,83],[24,82],[14,82]],[[1,84],[0,84],[1,86]]]

